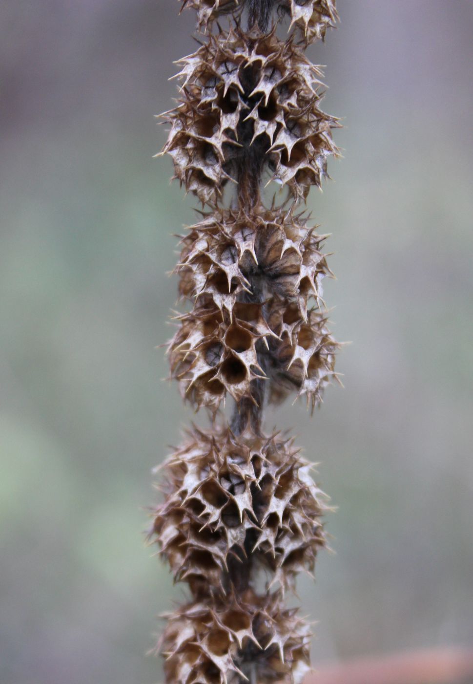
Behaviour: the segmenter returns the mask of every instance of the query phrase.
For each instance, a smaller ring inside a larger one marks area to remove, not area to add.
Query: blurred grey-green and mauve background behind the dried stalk
[[[473,3],[338,7],[309,55],[344,159],[308,203],[346,389],[268,419],[338,505],[299,583],[315,664],[473,642]],[[193,25],[176,0],[0,3],[2,684],[161,678],[145,653],[183,589],[141,531],[192,418],[155,347],[195,202],[153,115]]]

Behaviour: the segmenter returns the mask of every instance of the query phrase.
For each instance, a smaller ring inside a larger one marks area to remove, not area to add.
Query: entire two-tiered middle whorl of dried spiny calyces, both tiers
[[[196,406],[215,410],[227,393],[250,398],[260,379],[270,401],[291,391],[312,408],[321,401],[338,345],[320,311],[331,274],[325,236],[307,221],[292,209],[216,210],[183,237],[176,271],[195,305],[177,317],[169,355],[172,377]]]

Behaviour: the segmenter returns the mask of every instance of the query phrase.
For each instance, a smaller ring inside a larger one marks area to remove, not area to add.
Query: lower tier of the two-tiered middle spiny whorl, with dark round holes
[[[268,322],[262,304],[236,302],[230,318],[212,300],[179,317],[168,353],[185,399],[215,412],[227,393],[236,402],[252,399],[252,382],[260,379],[273,403],[290,391],[306,395],[312,410],[321,402],[338,349],[325,315],[312,309],[304,320],[297,303],[278,298],[265,307]]]

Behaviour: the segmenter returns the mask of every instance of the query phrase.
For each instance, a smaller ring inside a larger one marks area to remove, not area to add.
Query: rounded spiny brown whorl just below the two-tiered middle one
[[[242,573],[254,579],[261,566],[283,589],[301,570],[312,573],[327,497],[310,468],[280,434],[194,428],[162,466],[164,500],[150,534],[176,581],[199,595],[202,586],[238,588]]]

